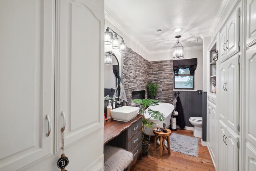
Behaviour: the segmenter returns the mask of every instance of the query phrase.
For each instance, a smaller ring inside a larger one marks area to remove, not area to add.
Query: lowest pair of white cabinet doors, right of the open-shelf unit
[[[219,171],[238,171],[238,135],[222,120],[219,127]]]

